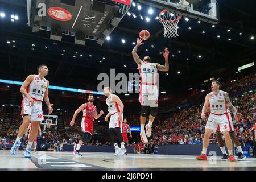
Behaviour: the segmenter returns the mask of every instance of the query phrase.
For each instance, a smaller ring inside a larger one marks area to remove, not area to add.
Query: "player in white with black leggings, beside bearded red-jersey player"
[[[125,142],[123,142],[122,135],[122,123],[123,123],[123,102],[120,98],[111,93],[111,89],[109,87],[105,87],[103,90],[106,97],[106,104],[108,105],[109,113],[105,117],[105,121],[109,121],[109,135],[114,143],[115,147],[115,155],[123,155],[126,152]],[[117,138],[121,144],[121,148],[118,147]]]

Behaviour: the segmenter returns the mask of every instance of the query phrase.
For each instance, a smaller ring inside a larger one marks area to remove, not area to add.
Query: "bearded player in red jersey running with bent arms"
[[[72,121],[70,122],[70,125],[73,126],[75,124],[77,114],[82,111],[82,137],[80,138],[76,148],[74,148],[73,154],[75,156],[82,156],[81,154],[79,154],[79,150],[84,142],[89,142],[92,139],[94,119],[98,119],[101,117],[102,114],[104,114],[102,110],[100,111],[100,114],[97,114],[97,108],[93,105],[93,94],[89,94],[87,96],[87,100],[87,103],[82,104],[75,111]]]

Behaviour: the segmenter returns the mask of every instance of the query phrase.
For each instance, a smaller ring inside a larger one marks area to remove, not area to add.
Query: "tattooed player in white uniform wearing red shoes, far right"
[[[212,92],[205,97],[204,106],[202,109],[201,118],[205,119],[205,113],[208,106],[210,106],[210,115],[205,126],[205,134],[203,140],[203,149],[201,155],[197,156],[197,160],[207,160],[207,147],[209,146],[209,139],[212,133],[216,133],[217,127],[220,126],[220,132],[225,137],[226,146],[229,151],[229,160],[236,161],[232,152],[232,140],[230,139],[230,118],[228,115],[228,109],[234,114],[236,121],[239,121],[238,117],[241,117],[230,101],[228,93],[220,90],[220,82],[212,81]]]

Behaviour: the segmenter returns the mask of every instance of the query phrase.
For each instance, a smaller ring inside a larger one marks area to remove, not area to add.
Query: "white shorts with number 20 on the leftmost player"
[[[35,101],[34,105],[31,106],[28,99],[24,97],[22,100],[22,111],[20,115],[25,115],[25,114],[31,116],[31,122],[43,121],[44,114],[42,110],[42,102]]]

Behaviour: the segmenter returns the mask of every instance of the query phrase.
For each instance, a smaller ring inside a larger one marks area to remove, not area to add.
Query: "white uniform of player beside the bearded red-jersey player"
[[[120,113],[120,106],[117,104],[117,102],[112,100],[113,94],[110,94],[108,98],[106,98],[106,104],[109,106],[109,113],[110,115],[110,121],[109,121],[109,129],[120,127],[121,133],[122,133],[122,123],[123,123],[123,115],[122,115],[122,121],[118,119],[118,115]]]

